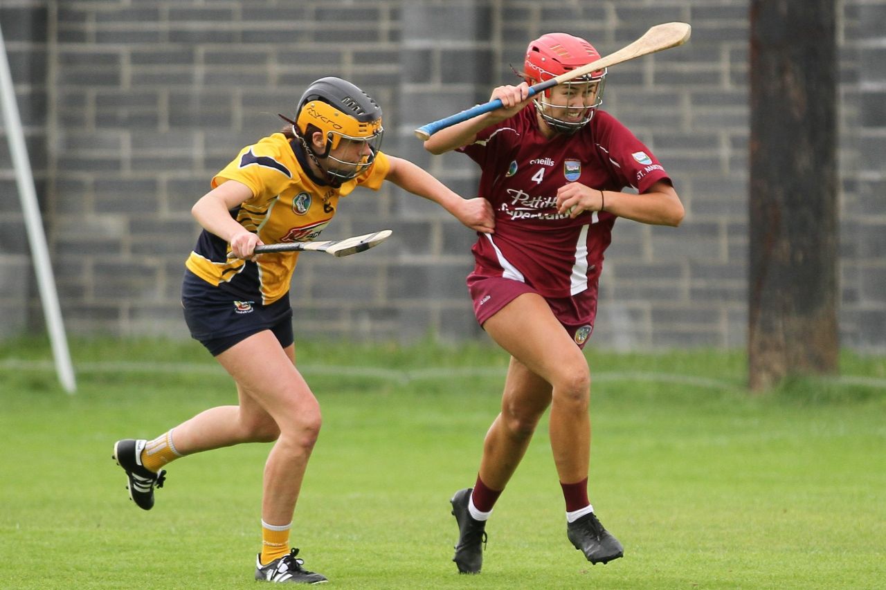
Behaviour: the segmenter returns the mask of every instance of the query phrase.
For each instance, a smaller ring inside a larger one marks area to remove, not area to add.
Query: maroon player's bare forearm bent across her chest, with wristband
[[[559,213],[569,213],[571,218],[585,211],[607,211],[641,223],[672,227],[680,225],[685,213],[677,191],[666,181],[656,182],[639,196],[570,182],[557,190],[556,206]]]

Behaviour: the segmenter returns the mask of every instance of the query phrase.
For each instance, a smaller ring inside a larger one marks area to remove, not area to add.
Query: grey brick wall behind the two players
[[[886,0],[843,0],[843,344],[886,350]],[[198,228],[190,206],[240,147],[276,130],[302,89],[347,78],[385,108],[385,151],[464,196],[477,171],[412,136],[515,80],[525,44],[563,30],[603,54],[669,20],[677,50],[612,68],[605,105],[663,160],[680,229],[618,221],[595,343],[740,347],[746,333],[748,7],[734,0],[3,0],[3,27],[66,326],[186,338],[178,304]],[[0,129],[0,337],[42,330]],[[463,278],[474,237],[420,198],[349,197],[324,237],[395,231],[372,252],[303,256],[296,329],[348,338],[481,338]]]

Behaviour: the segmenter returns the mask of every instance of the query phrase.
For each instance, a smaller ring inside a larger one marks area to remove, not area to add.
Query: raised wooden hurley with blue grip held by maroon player
[[[533,84],[529,87],[529,96],[533,97],[541,91],[554,87],[557,84],[562,84],[573,78],[592,74],[598,70],[602,70],[604,67],[615,66],[616,64],[629,61],[633,58],[639,58],[643,55],[649,55],[649,53],[655,53],[656,51],[671,49],[672,47],[682,45],[688,41],[691,30],[692,27],[689,27],[685,22],[666,22],[663,25],[651,27],[639,39],[614,53],[610,53],[605,58],[592,61],[587,64],[587,66],[577,67],[571,72],[560,74],[556,76],[556,78],[551,78],[545,82]],[[455,113],[454,115],[448,116],[446,119],[435,120],[423,127],[417,128],[416,137],[423,141],[427,140],[440,129],[452,127],[457,123],[473,119],[484,113],[491,113],[499,108],[501,108],[501,100],[496,98],[483,105],[477,105],[467,111]]]

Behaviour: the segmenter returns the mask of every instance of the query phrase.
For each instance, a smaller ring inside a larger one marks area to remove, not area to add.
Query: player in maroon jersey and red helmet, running
[[[530,84],[599,57],[579,37],[542,35],[526,50],[525,82],[494,89],[500,109],[424,143],[435,154],[462,151],[481,168],[479,196],[493,206],[495,233],[472,249],[468,290],[478,322],[511,355],[476,484],[451,500],[462,573],[480,571],[486,519],[548,407],[569,540],[591,563],[624,552],[588,500],[590,372],[581,349],[616,219],[677,226],[683,206],[649,148],[599,109],[605,70],[527,98]]]

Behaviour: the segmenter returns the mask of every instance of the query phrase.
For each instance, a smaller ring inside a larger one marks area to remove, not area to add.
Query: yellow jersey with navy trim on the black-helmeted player
[[[264,244],[310,242],[332,221],[339,197],[357,186],[380,189],[391,169],[391,160],[379,151],[372,166],[361,175],[333,187],[310,172],[306,158],[298,140],[290,141],[282,133],[275,133],[241,150],[214,176],[212,186],[234,180],[253,191],[252,198],[230,213],[245,229],[258,234]],[[229,260],[228,252],[228,243],[204,229],[185,266],[207,283],[237,297],[260,296],[264,305],[289,291],[299,252],[261,254],[256,262]]]

